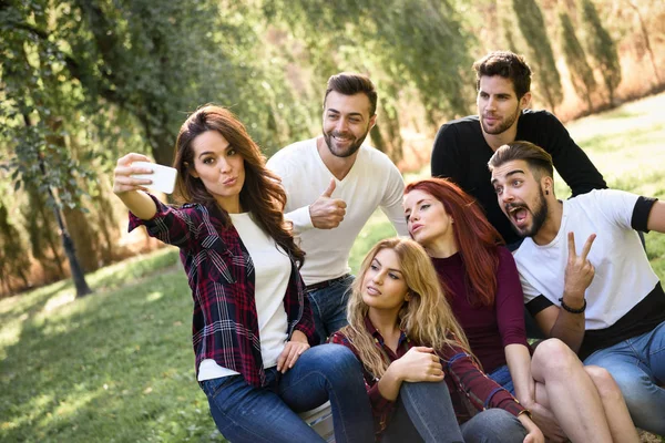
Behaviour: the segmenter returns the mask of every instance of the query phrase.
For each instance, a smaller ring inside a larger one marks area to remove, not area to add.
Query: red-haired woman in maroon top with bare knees
[[[583,367],[562,341],[533,357],[524,332],[515,262],[477,203],[431,178],[405,189],[409,233],[429,254],[471,350],[487,373],[528,408],[553,441],[636,442],[618,387],[602,368]]]

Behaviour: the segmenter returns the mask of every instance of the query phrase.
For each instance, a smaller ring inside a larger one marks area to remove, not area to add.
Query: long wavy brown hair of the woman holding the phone
[[[203,182],[190,174],[194,167],[192,142],[207,131],[222,134],[244,159],[245,183],[239,196],[242,207],[250,212],[256,224],[301,265],[305,253],[294,243],[284,220],[286,193],[279,185],[280,179],[266,168],[266,158],[260,148],[243,123],[227,109],[205,105],[190,115],[181,126],[173,159],[173,167],[178,172],[174,195],[176,200],[181,204],[198,203],[216,207],[224,217],[224,224],[231,225],[228,214],[208,193]]]

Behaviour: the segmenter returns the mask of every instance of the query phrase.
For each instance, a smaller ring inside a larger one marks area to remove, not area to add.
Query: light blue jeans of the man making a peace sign
[[[665,435],[665,322],[654,330],[601,349],[584,364],[605,368],[626,400],[635,426]]]

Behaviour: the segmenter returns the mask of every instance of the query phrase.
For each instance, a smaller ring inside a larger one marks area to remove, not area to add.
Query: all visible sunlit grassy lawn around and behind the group
[[[663,105],[664,94],[569,127],[612,187],[665,198]],[[354,270],[391,235],[375,214],[354,246]],[[647,243],[663,279],[665,236]],[[0,300],[0,441],[224,441],[194,380],[192,300],[177,251],[88,281],[95,293],[80,300],[69,280]]]

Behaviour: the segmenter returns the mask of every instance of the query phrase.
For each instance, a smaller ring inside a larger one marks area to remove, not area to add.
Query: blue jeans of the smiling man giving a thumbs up
[[[352,282],[354,276],[348,276],[327,288],[307,292],[314,315],[314,326],[321,343],[325,343],[332,332],[348,324],[346,307]]]

